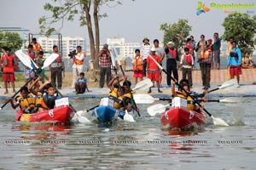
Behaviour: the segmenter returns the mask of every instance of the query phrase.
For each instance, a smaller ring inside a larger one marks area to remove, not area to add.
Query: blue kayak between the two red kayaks
[[[91,112],[91,116],[96,117],[98,122],[112,122],[118,117],[124,119],[125,111],[120,111],[110,106],[101,105],[96,107],[96,109]]]

